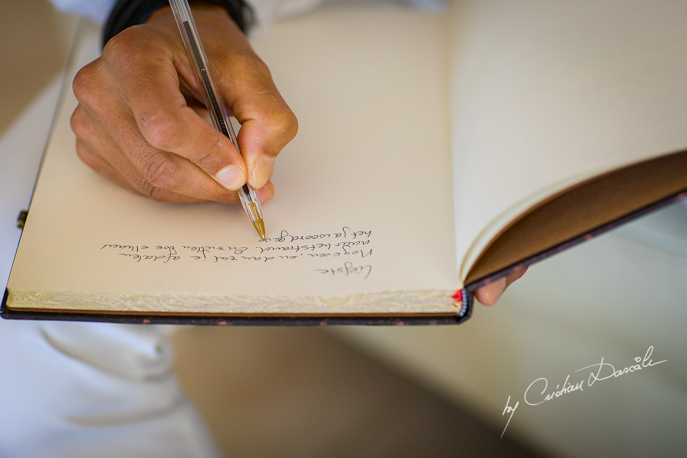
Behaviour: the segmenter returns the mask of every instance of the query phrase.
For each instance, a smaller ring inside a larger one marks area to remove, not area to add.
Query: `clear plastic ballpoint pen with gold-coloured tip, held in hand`
[[[179,32],[181,32],[183,44],[186,47],[186,51],[188,51],[188,57],[196,64],[193,67],[201,89],[204,89],[203,99],[205,100],[207,111],[210,113],[210,118],[212,118],[212,124],[214,124],[217,130],[226,137],[229,137],[238,150],[238,141],[236,141],[236,134],[234,133],[234,128],[232,128],[232,123],[229,121],[227,108],[224,106],[222,98],[216,97],[216,94],[219,93],[217,83],[212,75],[210,62],[208,62],[207,56],[205,56],[203,43],[201,43],[201,37],[193,21],[193,15],[191,14],[191,8],[188,5],[188,1],[169,1],[172,12],[174,12],[174,18],[177,19],[177,25],[179,25]],[[245,209],[248,217],[251,218],[251,222],[253,222],[253,227],[258,231],[260,238],[266,240],[264,221],[262,221],[262,209],[260,209],[260,200],[258,199],[256,190],[248,183],[245,183],[237,193],[241,205],[243,205],[243,209]]]

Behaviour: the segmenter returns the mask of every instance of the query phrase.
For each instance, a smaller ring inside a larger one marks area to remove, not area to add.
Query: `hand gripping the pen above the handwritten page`
[[[166,7],[112,38],[74,78],[77,154],[156,201],[238,203],[234,191],[246,181],[267,201],[275,157],[297,120],[227,12],[194,3],[193,13],[227,110],[241,124],[241,152],[194,111],[201,88]]]

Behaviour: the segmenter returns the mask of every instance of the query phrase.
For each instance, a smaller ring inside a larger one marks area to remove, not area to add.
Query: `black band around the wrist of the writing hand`
[[[252,10],[245,0],[204,1],[225,8],[243,33],[247,33],[249,27],[253,25]],[[153,12],[168,5],[168,0],[117,0],[102,31],[102,45],[104,46],[110,38],[122,32],[126,27],[148,21]]]

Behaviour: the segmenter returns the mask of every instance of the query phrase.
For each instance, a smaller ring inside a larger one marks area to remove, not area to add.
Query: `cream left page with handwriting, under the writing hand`
[[[361,7],[255,43],[300,122],[262,206],[267,242],[239,206],[155,203],[80,163],[66,88],[8,306],[455,313],[444,32],[438,14]],[[89,27],[74,70],[99,42]]]

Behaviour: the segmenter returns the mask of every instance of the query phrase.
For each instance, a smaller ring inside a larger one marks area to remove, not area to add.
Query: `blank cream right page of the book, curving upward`
[[[545,196],[687,146],[687,3],[451,3],[461,278]]]

